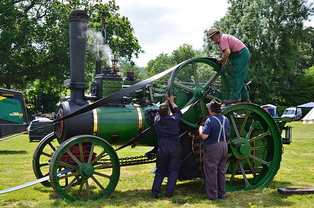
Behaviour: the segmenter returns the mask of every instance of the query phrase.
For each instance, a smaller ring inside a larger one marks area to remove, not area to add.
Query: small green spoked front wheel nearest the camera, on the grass
[[[105,162],[101,164],[100,159]],[[62,167],[74,170],[57,176]],[[54,191],[61,198],[71,201],[108,197],[119,177],[120,163],[115,150],[104,139],[91,135],[72,137],[62,143],[53,154],[49,167]],[[73,184],[77,180],[80,184],[75,187]]]

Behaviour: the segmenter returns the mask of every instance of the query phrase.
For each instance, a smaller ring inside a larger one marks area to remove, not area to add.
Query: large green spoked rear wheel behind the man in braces
[[[282,141],[276,122],[254,104],[233,105],[222,114],[230,121],[226,190],[265,187],[281,162]]]

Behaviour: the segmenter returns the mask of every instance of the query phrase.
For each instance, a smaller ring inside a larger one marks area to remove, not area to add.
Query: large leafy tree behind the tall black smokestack
[[[0,4],[0,83],[8,89],[24,89],[44,77],[58,82],[69,77],[68,15],[84,9],[90,26],[101,30],[101,13],[106,10],[106,43],[127,59],[142,52],[128,18],[117,11],[114,1],[10,1]],[[88,54],[87,66],[94,60]],[[90,68],[87,68],[90,69]],[[93,70],[93,69],[90,69]]]

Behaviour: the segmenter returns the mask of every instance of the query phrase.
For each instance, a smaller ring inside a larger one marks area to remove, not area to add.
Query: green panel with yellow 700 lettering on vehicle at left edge
[[[24,123],[21,101],[0,96],[0,119],[14,123]]]

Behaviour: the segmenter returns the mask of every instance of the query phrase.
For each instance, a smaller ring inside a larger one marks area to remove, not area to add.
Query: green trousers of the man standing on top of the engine
[[[246,77],[250,52],[244,47],[238,52],[230,53],[229,58],[232,60],[232,92],[229,98],[234,100],[239,100],[240,98],[248,99],[249,93],[246,88]]]

